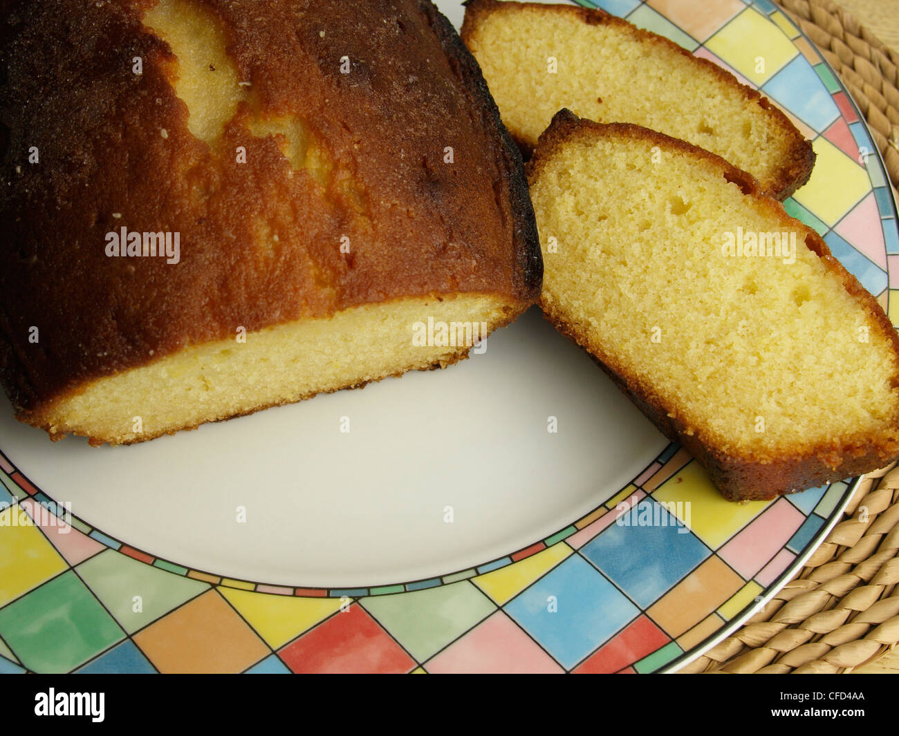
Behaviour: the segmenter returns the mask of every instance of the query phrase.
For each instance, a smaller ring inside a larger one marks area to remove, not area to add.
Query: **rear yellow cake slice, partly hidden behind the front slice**
[[[462,39],[525,151],[567,108],[706,148],[779,199],[812,172],[811,143],[766,97],[708,59],[601,10],[469,0]]]

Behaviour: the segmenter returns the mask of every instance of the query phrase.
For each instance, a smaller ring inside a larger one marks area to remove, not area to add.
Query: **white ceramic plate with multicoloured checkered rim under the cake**
[[[809,41],[761,0],[599,4],[814,139],[788,212],[895,322],[883,165]],[[129,448],[51,444],[3,399],[0,451],[0,671],[673,669],[788,580],[851,490],[723,501],[536,309],[456,367]]]

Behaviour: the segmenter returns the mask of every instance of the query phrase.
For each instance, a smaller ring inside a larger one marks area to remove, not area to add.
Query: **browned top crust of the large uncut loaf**
[[[195,3],[247,83],[217,146],[191,135],[173,51],[141,23],[155,0],[0,3],[0,381],[20,416],[237,326],[402,297],[536,300],[521,155],[432,3]],[[251,134],[282,117],[333,162],[324,196]],[[180,233],[181,262],[107,257],[120,226]]]

